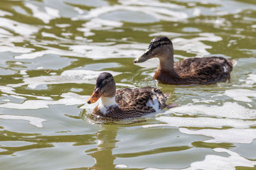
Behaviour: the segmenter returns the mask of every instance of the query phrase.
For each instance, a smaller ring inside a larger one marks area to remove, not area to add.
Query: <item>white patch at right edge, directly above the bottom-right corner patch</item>
[[[256,139],[256,129],[201,129],[197,131],[179,128],[185,134],[200,134],[214,139],[205,140],[207,143],[252,143]]]

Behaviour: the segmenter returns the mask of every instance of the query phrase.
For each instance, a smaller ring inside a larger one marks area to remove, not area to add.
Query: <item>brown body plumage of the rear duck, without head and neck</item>
[[[230,81],[233,61],[223,57],[203,57],[185,59],[174,63],[175,72],[172,76],[164,71],[156,71],[154,79],[168,84],[211,84]]]

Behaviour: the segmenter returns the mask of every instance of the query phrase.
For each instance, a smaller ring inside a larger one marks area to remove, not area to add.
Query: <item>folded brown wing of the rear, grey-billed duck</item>
[[[175,62],[175,71],[181,78],[189,81],[209,84],[230,80],[233,60],[223,57],[190,58]]]

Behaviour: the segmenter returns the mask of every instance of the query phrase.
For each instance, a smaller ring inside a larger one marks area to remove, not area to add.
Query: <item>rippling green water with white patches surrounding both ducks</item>
[[[256,169],[255,1],[0,2],[1,169]],[[133,64],[155,36],[175,60],[237,60],[231,83],[152,80]],[[179,107],[136,124],[93,124],[102,71],[118,88],[159,87]]]

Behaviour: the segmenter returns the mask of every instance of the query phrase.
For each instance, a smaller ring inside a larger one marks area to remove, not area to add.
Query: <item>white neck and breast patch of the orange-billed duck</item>
[[[113,97],[100,97],[100,103],[98,105],[99,110],[103,115],[108,113],[108,108],[110,107],[118,107],[118,104],[115,101],[115,96]]]

